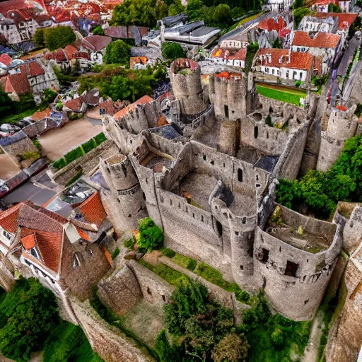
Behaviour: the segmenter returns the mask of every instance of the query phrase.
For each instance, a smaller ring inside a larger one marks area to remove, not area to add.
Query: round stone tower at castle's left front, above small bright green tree
[[[121,153],[100,161],[100,170],[109,190],[103,189],[103,202],[117,234],[134,229],[147,216],[139,179],[129,159]]]

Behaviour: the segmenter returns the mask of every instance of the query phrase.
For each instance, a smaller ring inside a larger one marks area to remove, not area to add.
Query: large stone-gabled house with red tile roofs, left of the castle
[[[67,305],[66,293],[86,299],[110,269],[105,241],[112,225],[99,192],[73,210],[69,220],[32,202],[0,214],[0,254],[33,276]],[[71,314],[71,313],[70,313]]]

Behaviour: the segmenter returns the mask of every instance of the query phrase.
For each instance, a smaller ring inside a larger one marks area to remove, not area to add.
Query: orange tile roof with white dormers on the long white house
[[[264,54],[270,54],[271,62],[269,62],[269,57],[267,59],[263,57],[263,66],[309,70],[313,65],[313,55],[310,53],[291,52],[290,62],[288,62],[288,49],[262,48],[257,52],[257,56]]]

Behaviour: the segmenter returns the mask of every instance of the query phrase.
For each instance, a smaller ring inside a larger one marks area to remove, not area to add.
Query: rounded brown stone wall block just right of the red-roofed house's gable
[[[143,298],[139,282],[127,264],[98,283],[98,296],[117,315],[126,314]]]

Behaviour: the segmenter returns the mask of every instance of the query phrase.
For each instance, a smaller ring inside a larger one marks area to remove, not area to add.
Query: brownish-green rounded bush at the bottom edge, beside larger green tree
[[[242,362],[247,358],[249,344],[236,333],[226,334],[212,350],[214,362]]]

